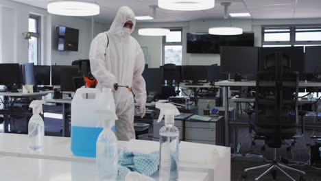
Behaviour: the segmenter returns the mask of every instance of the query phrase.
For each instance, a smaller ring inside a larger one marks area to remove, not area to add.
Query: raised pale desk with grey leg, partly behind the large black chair
[[[223,80],[220,82],[215,82],[215,86],[222,86],[223,87],[223,102],[225,106],[225,145],[230,146],[230,139],[229,139],[229,118],[228,118],[228,88],[230,86],[256,86],[256,81],[246,81],[246,82],[233,82],[229,80]],[[309,82],[309,81],[300,81],[299,87],[321,87],[321,82]]]

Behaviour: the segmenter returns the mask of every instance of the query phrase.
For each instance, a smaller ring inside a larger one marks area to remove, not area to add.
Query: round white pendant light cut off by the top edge
[[[158,0],[159,8],[178,11],[208,10],[214,8],[215,0]]]

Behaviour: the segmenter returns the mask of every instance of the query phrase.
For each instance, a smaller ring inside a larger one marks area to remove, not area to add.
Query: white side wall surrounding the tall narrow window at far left
[[[49,21],[49,14],[46,10],[14,1],[0,1],[0,62],[25,63],[28,61],[28,44],[22,33],[28,32],[29,14],[41,16],[44,24]],[[51,39],[48,37],[50,34],[49,29],[42,29],[41,49],[44,53],[41,55],[41,59],[47,63],[50,61],[46,56],[49,51],[45,50],[49,49]]]

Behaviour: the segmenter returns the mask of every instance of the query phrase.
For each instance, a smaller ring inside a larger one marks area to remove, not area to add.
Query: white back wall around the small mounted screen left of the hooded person
[[[56,39],[56,27],[59,25],[79,29],[78,51],[58,51]],[[99,32],[106,31],[107,25],[102,23],[94,23],[95,37]],[[88,59],[89,48],[91,45],[91,21],[73,16],[51,15],[51,31],[52,31],[52,51],[51,64],[70,65],[73,60]]]

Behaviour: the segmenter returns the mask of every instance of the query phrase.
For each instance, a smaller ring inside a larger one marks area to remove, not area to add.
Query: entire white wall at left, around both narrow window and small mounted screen
[[[0,63],[28,62],[29,14],[40,16],[40,60],[41,64],[71,64],[73,60],[88,59],[92,28],[90,19],[49,14],[47,10],[14,1],[0,1]],[[80,29],[78,51],[57,51],[56,31],[58,25]],[[104,32],[109,25],[94,23],[93,36]]]

